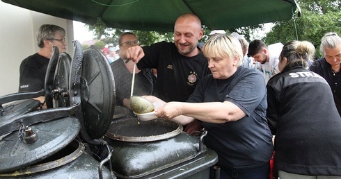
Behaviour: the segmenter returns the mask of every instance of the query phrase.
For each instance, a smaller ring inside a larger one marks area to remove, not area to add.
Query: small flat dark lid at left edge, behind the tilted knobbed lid
[[[32,112],[40,106],[40,101],[34,99],[24,99],[14,101],[12,103],[6,103],[3,105],[2,112],[0,114],[0,121],[6,121],[13,117]]]

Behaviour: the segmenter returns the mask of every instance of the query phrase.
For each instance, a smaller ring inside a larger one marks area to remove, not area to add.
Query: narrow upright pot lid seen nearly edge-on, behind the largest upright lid
[[[59,54],[58,48],[54,46],[45,77],[47,108],[70,106],[70,68],[71,57],[68,53]]]

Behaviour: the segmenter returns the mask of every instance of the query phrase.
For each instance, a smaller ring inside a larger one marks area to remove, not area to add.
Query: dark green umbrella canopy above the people
[[[180,15],[198,15],[208,28],[228,29],[291,19],[295,0],[1,0],[65,19],[111,28],[173,31]]]

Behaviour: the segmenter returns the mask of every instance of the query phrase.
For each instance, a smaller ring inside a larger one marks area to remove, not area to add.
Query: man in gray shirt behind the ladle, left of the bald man
[[[134,62],[132,60],[126,60],[124,58],[125,51],[129,47],[138,45],[137,37],[134,33],[122,33],[118,39],[120,47],[118,60],[112,62],[111,69],[113,70],[113,77],[115,78],[116,86],[116,105],[130,108],[130,90],[132,87],[132,74],[134,71]],[[154,92],[155,76],[152,69],[135,69],[135,83],[134,83],[134,95],[152,95]],[[131,114],[128,117],[133,117]]]

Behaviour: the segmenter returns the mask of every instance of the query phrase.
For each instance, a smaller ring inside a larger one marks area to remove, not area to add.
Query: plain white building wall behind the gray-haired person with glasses
[[[73,56],[73,24],[40,12],[0,1],[0,96],[12,94],[19,87],[19,66],[24,58],[39,51],[35,33],[42,24],[55,24],[66,31],[68,51]]]

